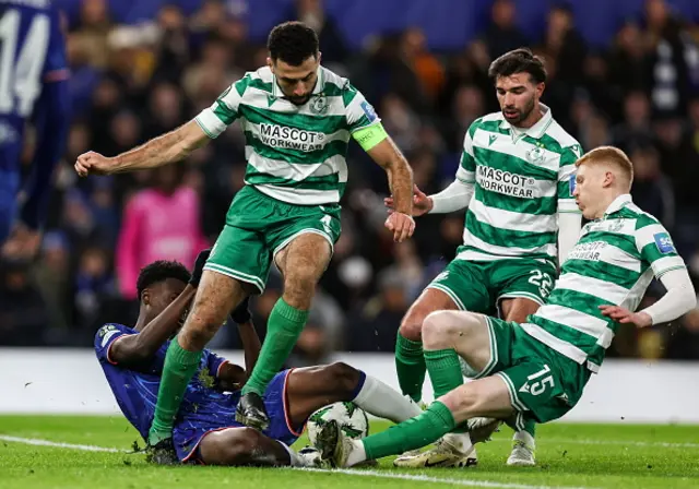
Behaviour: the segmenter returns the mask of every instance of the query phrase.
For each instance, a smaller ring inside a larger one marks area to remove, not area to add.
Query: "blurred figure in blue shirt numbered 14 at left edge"
[[[0,2],[0,247],[32,255],[51,195],[51,176],[70,124],[68,61],[58,7],[51,2]],[[32,175],[17,216],[26,127],[36,130]],[[15,217],[19,220],[14,222]]]

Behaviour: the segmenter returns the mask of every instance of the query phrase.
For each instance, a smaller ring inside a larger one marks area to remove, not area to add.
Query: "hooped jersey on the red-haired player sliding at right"
[[[599,307],[636,311],[653,276],[684,267],[667,230],[629,194],[620,195],[603,218],[582,228],[546,303],[521,326],[597,372],[618,327]]]

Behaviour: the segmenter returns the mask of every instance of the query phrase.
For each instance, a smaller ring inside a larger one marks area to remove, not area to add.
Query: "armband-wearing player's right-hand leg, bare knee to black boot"
[[[269,426],[262,395],[306,325],[316,284],[331,253],[328,240],[315,232],[298,236],[279,252],[276,263],[284,275],[284,294],[270,314],[260,358],[242,387],[236,421],[258,429]]]

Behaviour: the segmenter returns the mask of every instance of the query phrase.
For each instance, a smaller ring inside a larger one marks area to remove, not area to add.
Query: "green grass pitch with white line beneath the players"
[[[386,427],[375,424],[372,430]],[[479,444],[479,465],[459,470],[398,470],[388,458],[382,460],[377,469],[343,473],[158,467],[146,464],[143,454],[127,453],[139,437],[123,418],[4,416],[0,417],[0,488],[699,487],[699,427],[696,426],[554,424],[540,427],[540,465],[535,468],[505,466],[510,434],[503,428],[491,442]],[[303,446],[305,441],[299,440],[296,446]],[[29,444],[44,442],[63,445]],[[143,445],[140,440],[139,444]],[[88,451],[94,448],[115,451]]]

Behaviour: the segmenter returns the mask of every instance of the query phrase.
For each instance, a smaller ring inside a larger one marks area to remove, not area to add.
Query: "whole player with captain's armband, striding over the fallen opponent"
[[[272,29],[268,47],[268,65],[230,85],[194,120],[114,158],[91,152],[75,163],[81,176],[154,168],[187,157],[236,119],[245,131],[247,184],[230,205],[191,313],[168,349],[149,436],[153,450],[169,444],[202,349],[230,310],[263,290],[274,260],[284,293],[236,412],[244,425],[269,427],[262,395],[306,324],[316,284],[340,236],[351,135],[388,174],[396,212],[386,226],[394,240],[414,231],[411,168],[364,96],[320,65],[316,33],[299,22],[284,23]]]

